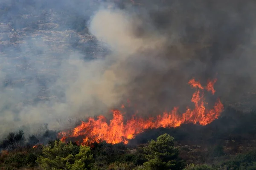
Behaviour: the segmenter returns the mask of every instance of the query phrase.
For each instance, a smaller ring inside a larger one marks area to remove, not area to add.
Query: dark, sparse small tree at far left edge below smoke
[[[20,130],[18,133],[10,132],[6,139],[3,140],[2,147],[8,150],[15,150],[24,142],[24,132]]]

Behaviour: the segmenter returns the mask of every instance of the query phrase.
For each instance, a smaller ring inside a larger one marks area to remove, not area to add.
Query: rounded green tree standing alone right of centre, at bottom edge
[[[157,137],[157,141],[151,140],[148,146],[144,147],[145,170],[180,170],[183,161],[178,157],[179,149],[174,146],[174,137],[163,134]]]

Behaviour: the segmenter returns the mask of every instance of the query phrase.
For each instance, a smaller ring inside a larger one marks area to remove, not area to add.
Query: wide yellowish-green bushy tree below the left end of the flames
[[[53,147],[43,146],[43,156],[37,162],[45,170],[90,170],[94,159],[90,147],[55,141]]]

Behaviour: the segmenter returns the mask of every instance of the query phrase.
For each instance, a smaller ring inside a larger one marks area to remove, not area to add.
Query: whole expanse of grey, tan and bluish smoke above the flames
[[[192,77],[218,78],[225,104],[253,90],[255,1],[134,1],[0,1],[0,133],[69,128],[127,99],[182,112]]]

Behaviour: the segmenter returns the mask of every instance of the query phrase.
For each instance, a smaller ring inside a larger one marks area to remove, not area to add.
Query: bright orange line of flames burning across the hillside
[[[205,108],[204,89],[215,94],[213,85],[217,79],[208,81],[204,88],[200,82],[191,79],[188,84],[195,88],[196,91],[192,95],[191,102],[195,104],[195,108],[187,108],[185,113],[179,114],[178,108],[174,108],[170,113],[163,113],[157,117],[149,117],[148,119],[135,118],[124,121],[123,113],[119,110],[113,110],[113,119],[107,123],[104,116],[98,116],[98,119],[89,118],[87,122],[81,122],[81,125],[75,127],[69,132],[59,133],[62,141],[67,138],[82,140],[79,141],[82,145],[90,145],[93,142],[106,141],[107,143],[116,144],[120,142],[128,143],[129,139],[133,139],[137,134],[142,133],[146,129],[154,129],[159,127],[179,127],[184,123],[193,123],[207,125],[220,116],[223,111],[223,105],[219,99],[215,102],[211,110]],[[121,108],[125,106],[122,105]]]

